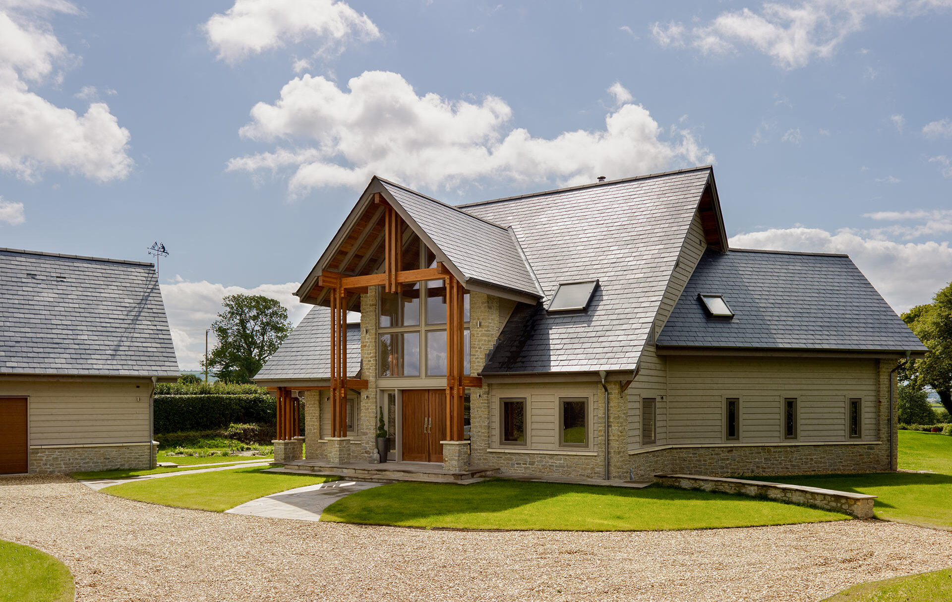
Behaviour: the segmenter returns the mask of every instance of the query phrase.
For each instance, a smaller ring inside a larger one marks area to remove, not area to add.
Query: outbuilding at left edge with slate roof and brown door
[[[155,266],[0,249],[0,474],[154,468],[178,375]]]

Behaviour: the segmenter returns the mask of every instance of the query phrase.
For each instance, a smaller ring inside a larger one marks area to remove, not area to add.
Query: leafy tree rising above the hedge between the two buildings
[[[260,294],[229,294],[222,305],[225,311],[211,323],[218,342],[208,368],[220,380],[249,383],[288,338],[288,310]]]

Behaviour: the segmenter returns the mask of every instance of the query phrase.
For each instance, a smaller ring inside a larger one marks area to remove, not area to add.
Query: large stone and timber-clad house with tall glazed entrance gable
[[[730,249],[709,166],[459,207],[374,177],[296,294],[256,377],[285,463],[304,398],[322,465],[382,414],[390,460],[446,472],[889,471],[925,351],[846,255]]]

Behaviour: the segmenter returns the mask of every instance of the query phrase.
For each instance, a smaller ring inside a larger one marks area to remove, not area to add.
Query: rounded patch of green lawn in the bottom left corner
[[[72,575],[45,552],[0,541],[0,602],[72,602]]]

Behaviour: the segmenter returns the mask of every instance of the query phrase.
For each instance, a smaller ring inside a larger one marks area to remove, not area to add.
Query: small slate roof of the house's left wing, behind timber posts
[[[347,325],[347,376],[360,371],[360,324]],[[254,379],[330,378],[330,309],[314,306]]]

